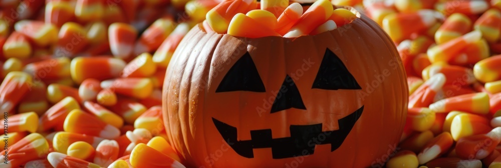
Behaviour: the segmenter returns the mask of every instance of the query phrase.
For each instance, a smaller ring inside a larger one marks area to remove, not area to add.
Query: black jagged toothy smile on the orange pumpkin
[[[254,148],[272,148],[273,158],[288,158],[313,154],[315,145],[331,144],[331,151],[343,143],[357,122],[364,106],[338,120],[339,129],[322,131],[322,123],[312,125],[291,125],[291,137],[272,138],[272,129],[251,130],[250,140],[237,140],[236,127],[212,118],[224,140],[236,153],[247,158],[254,157]],[[321,137],[321,138],[319,138]],[[325,137],[325,140],[322,140]]]

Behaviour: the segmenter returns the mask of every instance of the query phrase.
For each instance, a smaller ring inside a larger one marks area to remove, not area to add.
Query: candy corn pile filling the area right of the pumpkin
[[[380,24],[407,72],[407,122],[387,167],[501,167],[501,0],[333,1]]]

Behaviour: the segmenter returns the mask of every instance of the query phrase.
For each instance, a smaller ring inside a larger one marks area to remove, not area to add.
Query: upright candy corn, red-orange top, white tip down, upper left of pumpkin
[[[137,30],[129,24],[113,23],[108,28],[110,49],[117,58],[126,59],[133,53]]]

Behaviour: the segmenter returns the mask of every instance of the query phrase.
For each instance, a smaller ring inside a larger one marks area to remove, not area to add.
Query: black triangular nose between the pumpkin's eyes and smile
[[[306,109],[303,98],[301,98],[301,94],[299,93],[298,86],[296,86],[292,78],[287,75],[273,102],[271,113],[289,108]]]

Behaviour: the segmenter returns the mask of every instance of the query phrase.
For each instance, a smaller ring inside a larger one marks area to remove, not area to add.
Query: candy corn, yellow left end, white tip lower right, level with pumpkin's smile
[[[118,128],[80,109],[74,109],[66,116],[64,130],[110,139],[120,135]]]

